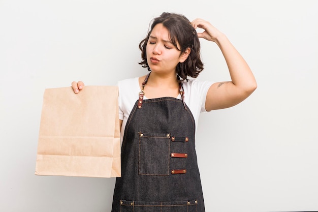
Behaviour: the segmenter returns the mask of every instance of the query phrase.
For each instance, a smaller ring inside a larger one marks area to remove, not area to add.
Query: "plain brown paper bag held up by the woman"
[[[35,174],[120,176],[117,86],[45,89]]]

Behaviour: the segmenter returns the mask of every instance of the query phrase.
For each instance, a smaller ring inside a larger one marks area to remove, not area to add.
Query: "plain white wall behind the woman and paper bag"
[[[197,153],[207,211],[318,210],[318,1],[0,0],[1,211],[110,211],[114,178],[37,176],[45,88],[147,73],[139,42],[162,12],[201,17],[247,60],[258,88],[203,113]],[[229,80],[202,41],[199,77]]]

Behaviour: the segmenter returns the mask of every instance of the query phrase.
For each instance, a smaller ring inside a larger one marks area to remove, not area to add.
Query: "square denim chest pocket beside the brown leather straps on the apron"
[[[169,175],[170,133],[139,133],[138,174]]]

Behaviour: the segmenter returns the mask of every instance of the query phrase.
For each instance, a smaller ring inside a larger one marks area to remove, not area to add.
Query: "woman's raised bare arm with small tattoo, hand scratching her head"
[[[257,88],[257,83],[244,58],[226,35],[208,21],[197,18],[191,24],[194,28],[204,29],[203,33],[198,33],[199,38],[213,41],[218,45],[224,55],[232,80],[211,85],[207,93],[205,109],[210,111],[228,108],[245,100]]]

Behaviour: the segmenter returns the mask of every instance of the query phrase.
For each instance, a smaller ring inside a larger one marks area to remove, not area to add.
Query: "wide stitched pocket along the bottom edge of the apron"
[[[197,212],[198,201],[142,202],[120,200],[120,212]]]

